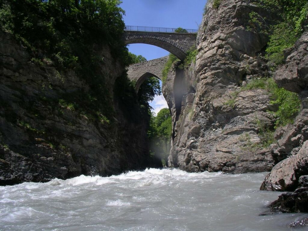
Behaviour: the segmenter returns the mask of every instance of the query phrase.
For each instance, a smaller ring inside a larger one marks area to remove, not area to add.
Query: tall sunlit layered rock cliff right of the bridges
[[[169,166],[189,172],[272,169],[261,136],[274,126],[268,92],[241,90],[267,74],[257,56],[267,38],[245,30],[252,10],[264,14],[250,1],[225,0],[217,9],[208,1],[196,63],[169,72],[163,86],[173,120]]]

